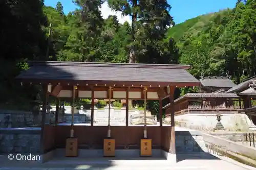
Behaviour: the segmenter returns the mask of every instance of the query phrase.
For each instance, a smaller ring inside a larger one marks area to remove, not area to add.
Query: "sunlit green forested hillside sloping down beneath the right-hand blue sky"
[[[179,61],[196,77],[232,76],[236,83],[255,75],[256,3],[189,19],[168,30],[180,50]]]

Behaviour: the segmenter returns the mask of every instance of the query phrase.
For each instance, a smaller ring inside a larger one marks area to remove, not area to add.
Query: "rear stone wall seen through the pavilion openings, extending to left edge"
[[[65,114],[59,114],[60,123],[71,123],[72,115],[70,107],[66,107]],[[55,123],[55,108],[51,109],[50,113],[46,114],[46,123]],[[129,111],[129,122],[131,122],[131,115],[139,114],[138,110]],[[110,123],[111,125],[125,125],[125,109],[115,110],[113,107],[110,111]],[[94,108],[94,122],[97,125],[108,125],[109,108],[99,110]],[[30,127],[34,125],[34,121],[37,119],[37,124],[41,122],[41,112],[38,115],[34,115],[32,112],[26,111],[10,111],[0,110],[0,128],[7,127]],[[74,123],[90,123],[91,122],[91,110],[79,110],[79,113],[74,115]]]

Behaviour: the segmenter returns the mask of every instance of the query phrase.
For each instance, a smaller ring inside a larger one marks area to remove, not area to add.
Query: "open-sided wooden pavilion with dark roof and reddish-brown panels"
[[[186,71],[188,68],[188,65],[173,64],[33,61],[29,62],[29,69],[23,71],[17,79],[23,85],[40,84],[45,90],[41,154],[51,155],[55,149],[65,148],[66,139],[70,137],[77,139],[78,149],[103,149],[103,141],[108,137],[115,139],[116,150],[139,151],[140,139],[147,138],[152,140],[153,150],[159,149],[165,155],[175,156],[175,127],[174,124],[162,126],[162,109],[159,111],[160,126],[129,126],[128,102],[125,103],[125,127],[94,126],[94,99],[159,100],[162,108],[162,99],[167,96],[170,101],[168,114],[171,115],[171,122],[174,122],[175,88],[200,84]],[[56,97],[56,108],[59,106],[59,98],[72,98],[73,101],[77,98],[91,98],[91,126],[58,126],[58,109],[55,125],[46,125],[49,95]]]

